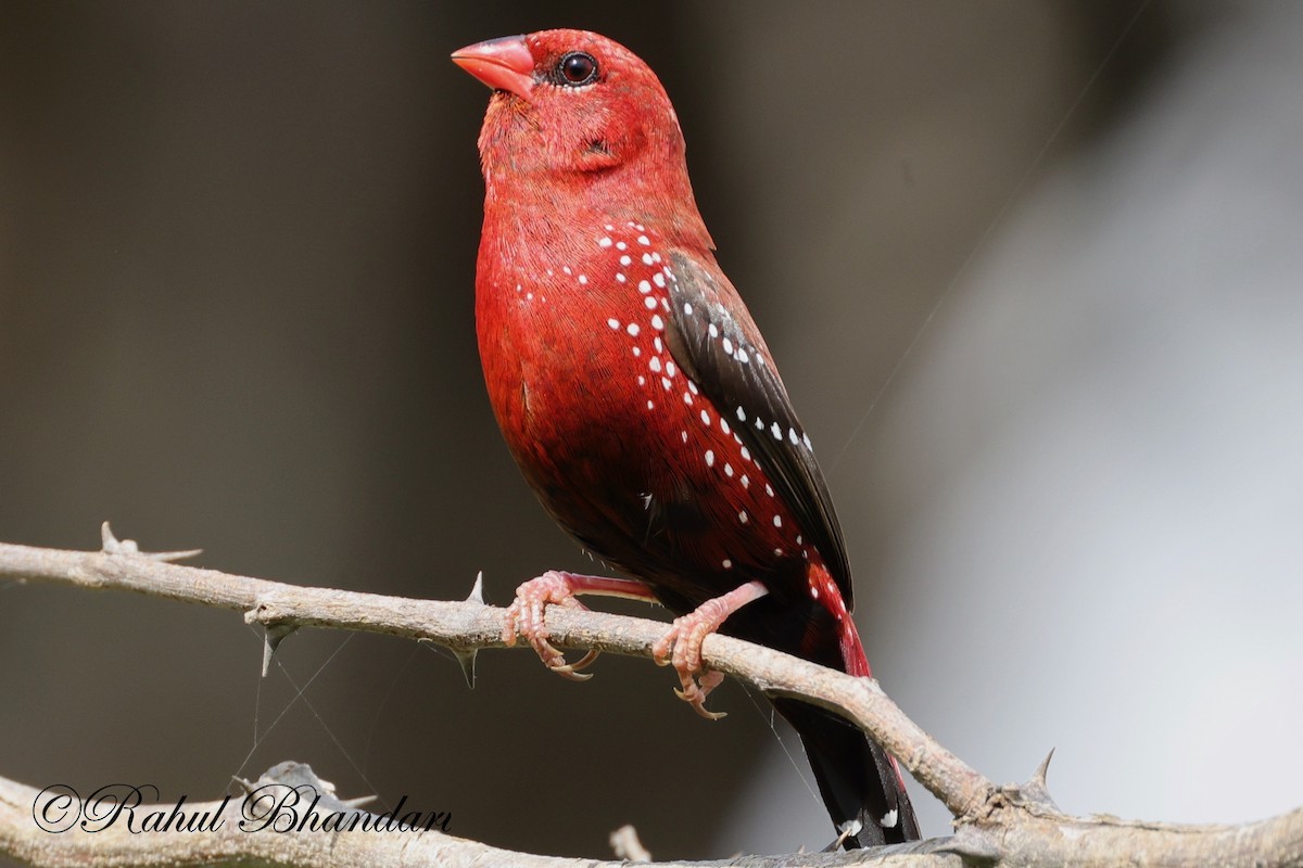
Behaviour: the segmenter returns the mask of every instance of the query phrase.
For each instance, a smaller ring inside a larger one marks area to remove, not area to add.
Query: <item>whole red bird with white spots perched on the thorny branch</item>
[[[852,675],[869,662],[851,567],[809,437],[713,254],[683,133],[655,74],[594,33],[546,30],[452,56],[494,88],[480,134],[485,223],[476,324],[489,397],[543,506],[629,579],[547,573],[517,630],[569,677],[543,606],[652,599],[678,619],[680,696],[722,681],[719,630]],[[919,838],[900,773],[840,717],[775,699],[847,847]]]

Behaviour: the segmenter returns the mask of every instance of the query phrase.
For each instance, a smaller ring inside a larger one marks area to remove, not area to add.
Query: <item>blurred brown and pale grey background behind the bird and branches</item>
[[[0,540],[491,603],[589,562],[483,394],[487,91],[606,33],[820,448],[887,691],[1062,807],[1303,803],[1303,7],[1012,0],[0,5]],[[646,612],[646,609],[636,609]],[[825,845],[735,683],[0,584],[0,774],[215,798],[306,761],[451,830],[607,856]],[[300,687],[305,690],[300,692]],[[915,790],[928,834],[947,816]]]

